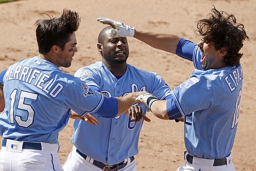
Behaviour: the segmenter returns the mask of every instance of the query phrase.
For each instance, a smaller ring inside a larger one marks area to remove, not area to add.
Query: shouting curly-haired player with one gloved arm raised
[[[177,170],[234,170],[230,151],[243,79],[239,50],[248,36],[234,15],[213,7],[208,16],[197,22],[201,35],[197,44],[173,34],[140,31],[108,18],[98,19],[113,25],[121,36],[134,36],[193,62],[195,70],[171,91],[168,100],[150,94],[138,97],[159,118],[184,116],[185,164]]]

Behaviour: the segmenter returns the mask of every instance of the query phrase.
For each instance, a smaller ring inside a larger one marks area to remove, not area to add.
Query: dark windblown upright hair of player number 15
[[[64,48],[69,36],[78,29],[81,18],[77,12],[63,9],[60,17],[46,14],[49,19],[38,19],[35,22],[38,51],[41,54],[49,52],[52,45]]]

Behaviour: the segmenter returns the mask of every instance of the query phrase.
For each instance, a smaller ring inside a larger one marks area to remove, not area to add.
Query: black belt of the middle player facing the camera
[[[76,149],[76,152],[81,155],[84,159],[86,159],[87,155],[85,155],[84,153],[80,152],[78,149]],[[134,156],[130,157],[130,162],[133,161],[135,158]],[[118,170],[121,169],[123,167],[126,166],[127,162],[124,162],[124,160],[122,162],[119,162],[118,164],[114,164],[114,165],[105,165],[104,163],[97,161],[97,160],[93,160],[92,164],[96,165],[99,168],[102,168],[103,170]]]

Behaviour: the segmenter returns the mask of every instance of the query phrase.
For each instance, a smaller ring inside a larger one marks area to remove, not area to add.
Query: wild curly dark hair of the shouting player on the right
[[[208,18],[197,21],[197,29],[205,43],[213,43],[216,50],[225,48],[227,53],[223,62],[233,66],[239,63],[242,53],[239,53],[243,46],[243,40],[248,38],[241,23],[236,22],[233,14],[218,11],[215,6]]]

